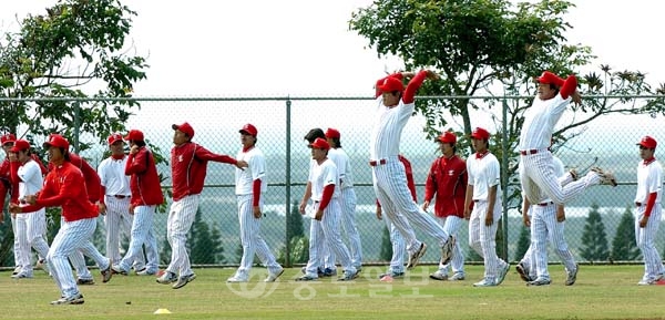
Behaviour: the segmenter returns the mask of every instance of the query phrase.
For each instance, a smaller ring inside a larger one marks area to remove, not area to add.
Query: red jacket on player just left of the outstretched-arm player
[[[137,153],[130,154],[125,175],[131,175],[133,206],[154,206],[164,202],[155,158],[145,146],[140,147]]]

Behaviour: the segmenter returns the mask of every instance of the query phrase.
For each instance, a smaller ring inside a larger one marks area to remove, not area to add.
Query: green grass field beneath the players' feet
[[[552,285],[526,287],[511,267],[494,288],[473,288],[482,267],[467,266],[467,280],[434,281],[422,266],[391,283],[377,279],[385,267],[365,267],[356,281],[325,278],[296,282],[299,268],[264,283],[255,268],[248,283],[227,285],[233,269],[196,269],[197,278],[174,290],[154,277],[114,276],[81,287],[82,306],[50,306],[59,298],[42,271],[14,280],[0,272],[1,319],[665,319],[665,286],[637,286],[643,266],[581,266],[577,282],[563,286],[561,266]],[[171,314],[153,314],[157,309]]]

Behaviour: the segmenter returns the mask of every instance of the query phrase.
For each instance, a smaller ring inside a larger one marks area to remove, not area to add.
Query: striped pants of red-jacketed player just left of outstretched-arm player
[[[120,268],[127,271],[132,264],[143,257],[143,245],[145,245],[145,256],[147,261],[145,268],[150,271],[157,271],[158,255],[157,239],[153,231],[153,220],[156,206],[136,206],[134,207],[134,220],[132,223],[132,235],[127,252],[120,260]]]

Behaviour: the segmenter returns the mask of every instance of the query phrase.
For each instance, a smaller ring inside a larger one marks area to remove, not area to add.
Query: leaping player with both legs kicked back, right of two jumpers
[[[571,100],[580,104],[577,79],[570,75],[563,80],[545,71],[536,79],[538,96],[524,113],[520,135],[520,182],[531,204],[544,202],[541,194],[556,204],[565,204],[592,185],[616,186],[614,175],[601,168],[591,169],[583,178],[562,186],[553,172],[550,143],[552,131]],[[573,177],[574,178],[574,177]],[[542,193],[541,193],[542,189]]]

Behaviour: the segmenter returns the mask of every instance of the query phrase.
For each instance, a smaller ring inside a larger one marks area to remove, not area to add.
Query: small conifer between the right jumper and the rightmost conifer
[[[589,261],[606,261],[610,257],[605,225],[603,225],[598,205],[595,203],[591,205],[589,217],[584,225],[580,255]]]

